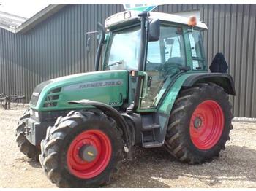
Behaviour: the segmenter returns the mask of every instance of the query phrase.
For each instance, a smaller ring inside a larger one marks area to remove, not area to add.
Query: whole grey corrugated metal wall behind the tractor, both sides
[[[37,84],[94,68],[97,43],[86,52],[86,31],[97,21],[123,11],[122,4],[73,4],[26,34],[0,28],[0,93],[24,93],[29,101]],[[234,114],[256,117],[256,4],[167,4],[160,12],[199,10],[208,25],[203,35],[208,63],[223,52],[236,82]]]

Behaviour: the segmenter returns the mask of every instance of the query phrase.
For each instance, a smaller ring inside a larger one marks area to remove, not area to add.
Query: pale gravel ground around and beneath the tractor
[[[56,187],[39,163],[23,156],[15,144],[21,106],[0,109],[0,187]],[[164,149],[135,148],[107,187],[256,187],[256,123],[233,122],[225,151],[211,163],[181,164]]]

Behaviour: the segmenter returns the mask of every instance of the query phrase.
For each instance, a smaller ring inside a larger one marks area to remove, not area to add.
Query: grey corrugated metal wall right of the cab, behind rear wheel
[[[238,117],[256,117],[256,4],[167,4],[159,12],[200,11],[208,63],[223,52],[237,96],[230,98]]]

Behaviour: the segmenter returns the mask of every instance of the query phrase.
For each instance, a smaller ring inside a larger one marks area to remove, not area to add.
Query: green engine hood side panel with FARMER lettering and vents
[[[30,105],[37,111],[53,111],[84,108],[80,104],[68,104],[68,101],[89,99],[111,106],[121,106],[127,98],[128,71],[97,71],[70,75],[52,79],[39,95],[37,105]],[[61,87],[59,93],[50,91]],[[49,95],[59,95],[58,100],[45,101]],[[46,103],[57,102],[56,106],[44,107]]]

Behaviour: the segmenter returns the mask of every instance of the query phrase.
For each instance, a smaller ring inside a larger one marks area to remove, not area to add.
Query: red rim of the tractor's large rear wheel
[[[211,149],[217,144],[224,129],[224,114],[216,101],[203,101],[192,114],[189,133],[198,149]]]

